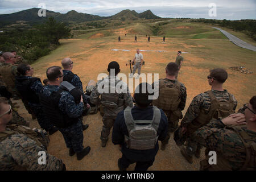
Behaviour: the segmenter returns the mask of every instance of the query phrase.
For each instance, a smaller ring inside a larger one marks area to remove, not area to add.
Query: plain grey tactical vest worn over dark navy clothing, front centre
[[[154,115],[152,120],[134,121],[133,115],[131,114],[131,107],[126,107],[124,116],[129,136],[125,135],[125,142],[128,148],[135,150],[150,150],[155,148],[156,142],[158,142],[157,133],[161,113],[155,106],[153,106],[153,110]]]

